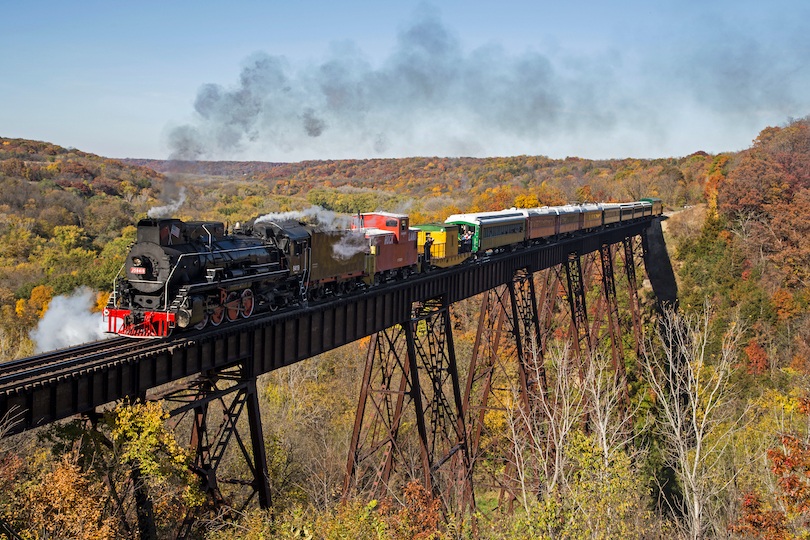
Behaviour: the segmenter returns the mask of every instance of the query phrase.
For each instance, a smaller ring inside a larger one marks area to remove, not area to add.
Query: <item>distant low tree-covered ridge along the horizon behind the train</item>
[[[696,152],[682,158],[588,160],[545,156],[414,157],[263,162],[123,160],[163,173],[225,176],[267,185],[273,194],[304,196],[313,188],[374,189],[424,199],[466,196],[470,208],[523,202],[561,204],[659,196],[667,205],[699,202],[718,161]],[[711,172],[710,172],[711,171]],[[532,199],[531,196],[535,198]],[[476,202],[474,199],[479,197]],[[527,200],[528,198],[528,200]],[[483,201],[489,204],[482,205]]]

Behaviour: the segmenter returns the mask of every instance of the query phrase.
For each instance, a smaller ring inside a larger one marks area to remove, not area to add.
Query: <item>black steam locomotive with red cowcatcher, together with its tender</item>
[[[302,298],[362,282],[365,253],[312,264],[356,231],[321,231],[297,221],[251,222],[227,234],[222,222],[144,219],[104,310],[109,332],[168,336],[219,326]],[[350,242],[351,243],[351,242]]]

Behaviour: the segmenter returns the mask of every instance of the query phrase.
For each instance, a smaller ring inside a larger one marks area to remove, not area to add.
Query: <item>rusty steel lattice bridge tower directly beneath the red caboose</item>
[[[343,498],[395,495],[418,479],[455,510],[474,504],[469,470],[449,306],[439,297],[371,338]]]

